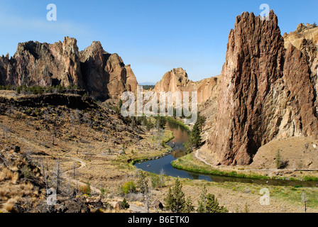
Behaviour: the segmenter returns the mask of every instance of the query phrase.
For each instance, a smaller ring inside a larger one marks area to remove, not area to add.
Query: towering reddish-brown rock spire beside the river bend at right
[[[318,135],[317,74],[309,65],[313,46],[289,45],[278,28],[253,13],[236,18],[221,74],[216,126],[209,148],[224,165],[248,165],[273,138]],[[312,60],[314,61],[314,60]]]

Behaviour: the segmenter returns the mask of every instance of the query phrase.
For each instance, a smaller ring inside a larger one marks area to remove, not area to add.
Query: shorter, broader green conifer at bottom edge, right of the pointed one
[[[228,213],[229,211],[224,206],[219,206],[219,202],[214,194],[207,193],[207,188],[203,187],[200,199],[197,201],[198,213]]]

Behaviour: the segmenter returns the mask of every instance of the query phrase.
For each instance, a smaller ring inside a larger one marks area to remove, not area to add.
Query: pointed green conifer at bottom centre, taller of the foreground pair
[[[190,198],[185,200],[185,193],[182,192],[182,184],[179,178],[175,180],[175,186],[169,187],[169,192],[167,197],[165,197],[165,207],[172,211],[173,213],[181,213],[188,211],[192,203],[190,203]]]

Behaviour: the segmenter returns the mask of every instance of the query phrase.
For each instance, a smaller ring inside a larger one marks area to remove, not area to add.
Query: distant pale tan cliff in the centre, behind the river
[[[211,97],[218,96],[219,77],[192,82],[182,68],[173,69],[163,75],[155,84],[154,92],[197,92],[198,104],[203,104]],[[191,96],[191,95],[190,95]]]

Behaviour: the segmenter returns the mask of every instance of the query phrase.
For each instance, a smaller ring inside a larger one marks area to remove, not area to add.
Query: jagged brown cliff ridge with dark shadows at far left
[[[99,42],[79,52],[77,40],[68,37],[63,43],[19,43],[11,59],[0,57],[0,84],[77,85],[97,99],[118,98],[137,87],[131,67],[118,55]]]

